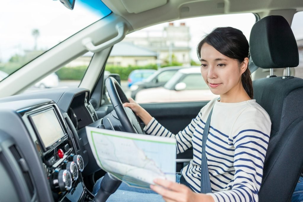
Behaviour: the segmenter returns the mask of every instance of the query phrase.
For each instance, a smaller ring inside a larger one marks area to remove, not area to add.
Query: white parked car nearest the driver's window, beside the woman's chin
[[[143,89],[136,95],[138,103],[188,102],[211,100],[218,95],[211,93],[203,81],[200,67],[180,69],[164,87]]]

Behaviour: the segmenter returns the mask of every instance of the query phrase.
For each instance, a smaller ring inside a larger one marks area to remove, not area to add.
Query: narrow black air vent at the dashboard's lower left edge
[[[25,159],[20,155],[18,152],[18,149],[14,146],[9,147],[9,150],[12,152],[13,156],[15,157],[16,161],[18,162],[20,169],[22,170],[25,182],[27,184],[29,193],[31,194],[31,197],[34,195],[34,186],[31,180],[31,177],[28,172],[28,166],[25,162]]]

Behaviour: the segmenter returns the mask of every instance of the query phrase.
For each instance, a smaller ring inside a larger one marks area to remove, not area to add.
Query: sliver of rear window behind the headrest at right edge
[[[303,78],[303,11],[297,12],[294,15],[291,23],[291,29],[294,32],[299,50],[299,65],[295,67],[293,74],[295,77]],[[292,68],[291,68],[292,69]]]

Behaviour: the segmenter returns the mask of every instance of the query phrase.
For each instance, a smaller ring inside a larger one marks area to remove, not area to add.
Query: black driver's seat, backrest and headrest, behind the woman
[[[263,69],[298,66],[298,47],[282,16],[256,22],[251,59]],[[271,77],[253,81],[254,99],[271,118],[259,201],[289,201],[303,166],[303,79]]]

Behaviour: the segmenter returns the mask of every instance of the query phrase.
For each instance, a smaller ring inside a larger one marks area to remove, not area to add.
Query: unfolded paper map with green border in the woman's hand
[[[155,178],[176,180],[175,138],[86,126],[98,166],[129,186],[149,189]]]

